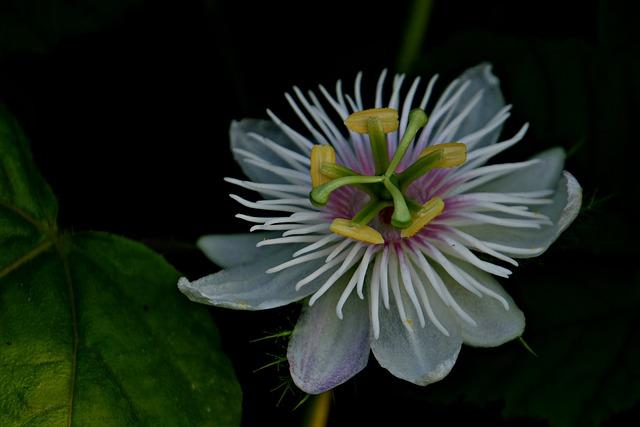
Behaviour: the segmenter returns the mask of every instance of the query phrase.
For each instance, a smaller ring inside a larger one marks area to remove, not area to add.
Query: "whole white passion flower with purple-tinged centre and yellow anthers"
[[[226,181],[257,192],[262,200],[231,197],[262,214],[237,215],[252,234],[201,238],[223,270],[178,283],[193,301],[234,309],[308,298],[287,354],[308,393],[358,373],[369,349],[393,375],[426,385],[447,375],[463,343],[520,336],[524,315],[494,276],[543,253],[581,204],[562,149],[487,164],[528,127],[497,142],[511,106],[489,65],[454,80],[430,114],[435,77],[419,102],[419,78],[402,99],[404,75],[383,101],[385,77],[372,108],[361,74],[353,96],[340,82],[335,96],[320,86],[326,103],[294,88],[286,99],[302,132],[271,111],[271,121],[234,122],[231,149],[250,180]]]

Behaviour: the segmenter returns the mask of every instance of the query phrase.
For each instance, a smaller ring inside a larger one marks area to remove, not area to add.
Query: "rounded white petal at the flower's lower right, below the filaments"
[[[516,307],[513,299],[502,286],[490,274],[465,262],[454,262],[509,303],[509,309],[505,310],[504,305],[495,298],[486,296],[478,298],[477,295],[458,285],[444,271],[438,271],[453,299],[477,323],[477,326],[473,326],[459,319],[464,343],[477,347],[495,347],[522,335],[525,324],[524,314]]]

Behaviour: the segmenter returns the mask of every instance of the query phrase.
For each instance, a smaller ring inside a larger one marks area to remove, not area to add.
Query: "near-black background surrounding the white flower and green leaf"
[[[412,13],[410,2],[68,3],[0,1],[0,101],[31,139],[63,226],[142,240],[191,278],[215,268],[195,250],[197,237],[245,230],[222,181],[240,176],[228,149],[230,120],[264,118],[269,107],[295,123],[282,96],[292,85],[333,86],[342,78],[349,86],[359,70],[371,90],[381,69],[397,70]],[[609,425],[640,416],[640,373],[630,366],[640,354],[633,339],[640,326],[637,16],[617,1],[434,3],[420,55],[402,71],[439,72],[441,90],[465,68],[490,61],[515,106],[506,134],[532,125],[507,158],[557,145],[570,153],[567,169],[584,187],[583,212],[552,250],[523,263],[512,293],[536,351],[553,354],[567,337],[581,338],[548,366],[532,362],[517,342],[465,348],[453,373],[427,389],[395,379],[372,359],[336,390],[332,425],[387,418],[394,425],[546,425],[535,419],[562,413],[556,406],[585,384],[595,391],[566,405],[582,405],[584,414],[601,405],[606,416],[598,419],[619,413]],[[540,283],[562,289],[560,296],[527,290]],[[591,305],[610,310],[593,315]],[[608,316],[620,307],[628,315]],[[297,391],[276,406],[283,388],[271,389],[286,381],[286,363],[253,372],[270,355],[282,356],[286,340],[250,343],[291,328],[297,310],[212,310],[243,387],[245,425],[295,425],[304,413],[293,410],[304,397]],[[569,313],[567,335],[536,322],[545,310]],[[591,332],[594,325],[608,331],[604,339]],[[502,362],[504,369],[491,368]],[[563,377],[576,364],[575,376]],[[519,377],[527,369],[540,372],[544,385],[527,389]],[[481,386],[484,398],[468,391]],[[514,403],[519,387],[529,391]],[[608,402],[609,390],[625,398]],[[592,418],[577,420],[588,425]]]

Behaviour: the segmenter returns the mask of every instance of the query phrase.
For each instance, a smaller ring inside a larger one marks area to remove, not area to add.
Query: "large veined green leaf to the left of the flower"
[[[145,246],[62,233],[0,109],[0,425],[238,425],[241,393],[206,309]]]

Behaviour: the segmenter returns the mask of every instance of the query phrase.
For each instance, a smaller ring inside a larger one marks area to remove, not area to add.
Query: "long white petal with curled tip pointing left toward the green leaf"
[[[320,275],[300,291],[295,284],[324,264],[316,259],[287,268],[278,273],[265,273],[271,267],[291,259],[293,252],[303,245],[287,245],[279,251],[266,251],[249,264],[237,265],[190,282],[181,278],[178,288],[191,301],[236,310],[264,310],[300,300],[318,290],[333,272]]]

